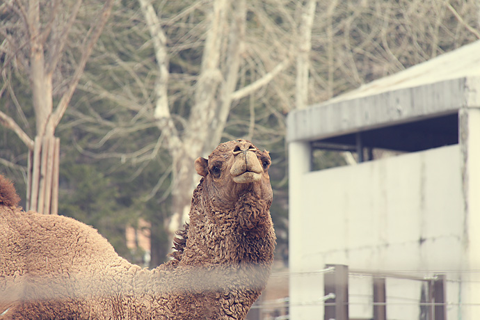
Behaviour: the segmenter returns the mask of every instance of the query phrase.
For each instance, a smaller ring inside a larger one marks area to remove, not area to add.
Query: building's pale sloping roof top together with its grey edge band
[[[480,40],[289,113],[288,141],[316,140],[480,106]]]

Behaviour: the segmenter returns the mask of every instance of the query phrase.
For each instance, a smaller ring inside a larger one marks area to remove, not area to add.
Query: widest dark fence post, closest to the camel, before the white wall
[[[349,320],[349,267],[342,264],[327,264],[333,272],[323,275],[325,295],[335,294],[335,298],[325,302],[324,319]]]

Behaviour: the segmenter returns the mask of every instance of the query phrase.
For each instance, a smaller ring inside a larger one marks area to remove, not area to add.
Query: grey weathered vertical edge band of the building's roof
[[[480,107],[480,77],[462,77],[412,88],[314,104],[287,115],[287,141],[313,141],[365,129]]]

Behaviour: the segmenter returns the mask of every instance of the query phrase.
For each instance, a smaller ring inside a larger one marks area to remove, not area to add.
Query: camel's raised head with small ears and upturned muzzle
[[[203,177],[207,196],[220,211],[230,211],[246,198],[264,203],[268,211],[273,197],[270,163],[269,152],[238,139],[218,145],[208,160],[198,158],[195,169]]]

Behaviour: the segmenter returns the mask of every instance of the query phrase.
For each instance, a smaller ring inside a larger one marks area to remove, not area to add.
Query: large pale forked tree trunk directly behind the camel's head
[[[184,125],[184,132],[175,131],[170,115],[166,93],[168,74],[166,70],[166,40],[161,23],[154,14],[150,0],[139,0],[145,21],[154,39],[159,79],[157,80],[157,104],[154,116],[159,129],[166,134],[167,148],[173,159],[173,217],[170,231],[175,231],[187,218],[190,195],[197,179],[191,163],[205,156],[220,143],[232,104],[255,90],[266,86],[291,61],[290,55],[280,56],[272,70],[265,72],[247,86],[238,86],[240,67],[246,52],[246,0],[213,1],[206,13],[207,33],[202,51],[202,63],[196,78],[193,104]],[[314,9],[313,9],[314,10]],[[160,41],[155,41],[161,38]],[[268,58],[269,63],[275,60]],[[273,60],[273,61],[272,61]],[[161,88],[160,88],[161,87]]]

